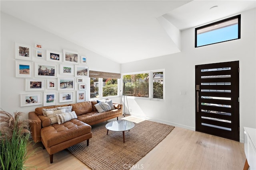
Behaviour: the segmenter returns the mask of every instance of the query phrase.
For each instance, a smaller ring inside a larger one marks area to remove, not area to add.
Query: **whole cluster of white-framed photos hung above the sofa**
[[[15,43],[15,63],[16,78],[25,79],[24,90],[28,92],[20,94],[20,107],[72,102],[75,86],[78,86],[76,102],[85,101],[84,81],[89,77],[89,67],[87,57],[80,56],[78,52],[45,50],[40,43],[35,43],[33,48],[32,45]],[[60,75],[57,78],[58,71]]]

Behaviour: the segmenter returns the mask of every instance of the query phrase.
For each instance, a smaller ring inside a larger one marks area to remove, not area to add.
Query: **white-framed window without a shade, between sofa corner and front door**
[[[123,75],[123,95],[157,100],[163,99],[163,70]]]

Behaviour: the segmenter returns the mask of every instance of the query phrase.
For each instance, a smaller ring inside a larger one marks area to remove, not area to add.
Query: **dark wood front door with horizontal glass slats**
[[[195,69],[196,131],[239,141],[239,61]]]

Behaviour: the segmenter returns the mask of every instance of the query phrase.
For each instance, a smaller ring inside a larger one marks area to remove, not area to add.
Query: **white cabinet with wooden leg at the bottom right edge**
[[[250,170],[256,170],[256,129],[254,128],[244,127],[244,152]],[[248,169],[248,164],[245,162],[244,169]]]

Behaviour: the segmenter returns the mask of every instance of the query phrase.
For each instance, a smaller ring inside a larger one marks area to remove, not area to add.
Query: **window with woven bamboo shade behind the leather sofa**
[[[90,98],[118,96],[118,73],[90,70]]]

